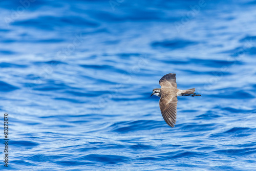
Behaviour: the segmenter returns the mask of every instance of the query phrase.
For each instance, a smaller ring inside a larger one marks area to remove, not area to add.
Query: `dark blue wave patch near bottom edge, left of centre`
[[[129,157],[117,156],[117,155],[99,155],[99,154],[90,154],[77,158],[78,161],[88,160],[92,162],[100,162],[104,164],[116,164],[123,163],[129,160]]]

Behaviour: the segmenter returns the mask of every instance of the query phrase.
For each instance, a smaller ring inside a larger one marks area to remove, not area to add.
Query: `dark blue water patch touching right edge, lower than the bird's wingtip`
[[[212,134],[210,137],[247,137],[251,135],[255,129],[249,127],[233,127],[223,133]]]

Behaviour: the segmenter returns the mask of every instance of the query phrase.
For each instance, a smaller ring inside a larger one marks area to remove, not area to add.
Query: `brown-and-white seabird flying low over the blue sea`
[[[177,96],[201,96],[196,94],[195,88],[188,90],[177,89],[176,75],[175,73],[169,73],[164,75],[159,84],[161,89],[154,89],[152,95],[160,97],[159,106],[165,122],[174,127],[176,124],[177,115]],[[150,96],[150,97],[151,97]]]

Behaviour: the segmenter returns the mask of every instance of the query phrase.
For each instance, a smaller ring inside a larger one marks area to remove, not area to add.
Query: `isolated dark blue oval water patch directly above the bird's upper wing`
[[[162,47],[168,49],[179,49],[185,48],[187,46],[198,44],[195,41],[183,40],[183,39],[174,39],[174,40],[163,40],[163,41],[155,41],[152,42],[152,47]]]

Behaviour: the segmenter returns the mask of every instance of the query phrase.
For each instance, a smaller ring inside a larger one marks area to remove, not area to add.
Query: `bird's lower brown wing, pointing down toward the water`
[[[177,94],[169,92],[163,93],[159,101],[163,119],[171,127],[176,124],[177,101]]]

